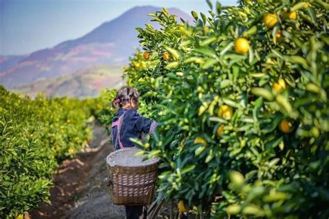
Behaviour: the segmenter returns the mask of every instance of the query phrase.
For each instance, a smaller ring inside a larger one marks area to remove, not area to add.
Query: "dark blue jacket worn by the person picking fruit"
[[[124,119],[121,125],[120,140],[125,148],[135,146],[133,142],[129,140],[130,138],[140,139],[142,132],[144,132],[144,134],[152,134],[155,129],[155,121],[140,116],[140,114],[134,109],[119,108],[113,122],[117,121],[122,114],[124,114]],[[117,126],[112,128],[112,135],[115,150],[119,150],[119,142],[117,142]]]

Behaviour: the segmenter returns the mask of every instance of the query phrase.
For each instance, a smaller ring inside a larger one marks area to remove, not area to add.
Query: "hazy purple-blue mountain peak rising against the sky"
[[[136,27],[151,23],[149,13],[161,8],[140,6],[132,8],[112,21],[105,22],[76,40],[62,42],[53,48],[42,49],[19,60],[0,72],[0,82],[7,88],[71,74],[94,65],[124,64],[138,47]],[[192,17],[176,8],[169,13],[192,24]],[[179,21],[179,19],[178,19]],[[61,33],[58,33],[61,34]]]

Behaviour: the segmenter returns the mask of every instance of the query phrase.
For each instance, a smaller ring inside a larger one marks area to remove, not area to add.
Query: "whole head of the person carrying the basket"
[[[140,98],[140,94],[133,87],[121,87],[117,91],[117,96],[115,96],[115,100],[112,101],[112,107],[122,107],[124,109],[137,109],[138,107],[138,98]]]

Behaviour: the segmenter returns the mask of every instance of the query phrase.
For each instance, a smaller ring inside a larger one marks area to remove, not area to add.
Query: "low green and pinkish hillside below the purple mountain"
[[[100,89],[118,88],[124,85],[121,65],[95,66],[70,75],[38,80],[13,91],[34,98],[42,91],[46,96],[70,96],[87,98],[97,96]]]

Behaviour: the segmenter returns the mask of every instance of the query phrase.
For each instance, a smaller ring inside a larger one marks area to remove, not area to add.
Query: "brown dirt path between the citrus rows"
[[[50,190],[51,204],[41,204],[26,218],[125,218],[124,207],[112,204],[109,189],[103,179],[107,177],[106,156],[113,151],[106,130],[94,124],[93,140],[74,159],[62,162]],[[157,218],[168,218],[166,204]]]

